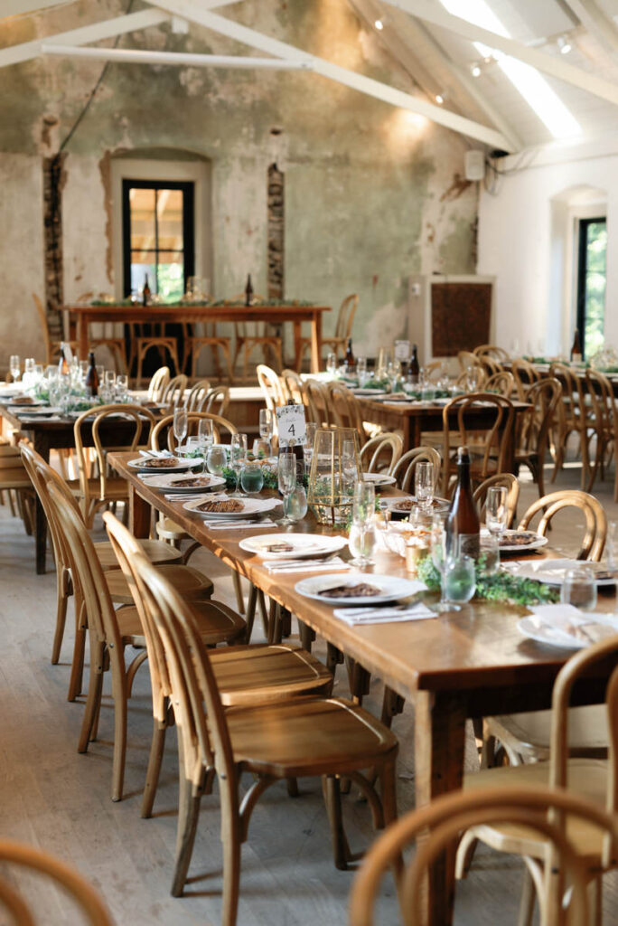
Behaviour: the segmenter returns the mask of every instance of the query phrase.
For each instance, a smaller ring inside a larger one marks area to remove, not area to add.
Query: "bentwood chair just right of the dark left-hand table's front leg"
[[[121,414],[133,423],[132,435],[125,443],[103,444],[101,426],[110,416]],[[135,450],[138,444],[147,446],[148,438],[154,424],[154,415],[147,408],[130,405],[108,405],[97,407],[94,411],[84,411],[73,425],[75,436],[75,457],[80,474],[79,488],[75,494],[80,499],[80,506],[86,526],[92,528],[94,515],[104,505],[114,502],[129,501],[129,486],[126,480],[113,476],[108,470],[106,454],[109,450]],[[94,458],[98,475],[92,475],[90,447],[84,444],[84,432],[92,426]],[[142,432],[146,427],[145,440]]]

